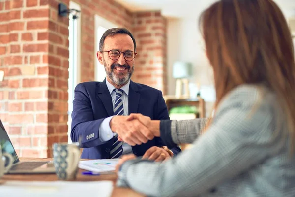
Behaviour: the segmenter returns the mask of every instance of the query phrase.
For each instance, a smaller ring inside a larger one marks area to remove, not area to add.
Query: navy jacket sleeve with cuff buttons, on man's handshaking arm
[[[75,88],[73,101],[71,139],[80,142],[82,148],[99,146],[104,142],[99,139],[99,127],[105,118],[94,120],[89,94],[80,83]]]

